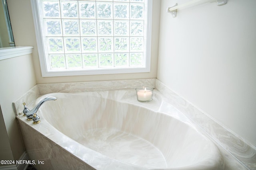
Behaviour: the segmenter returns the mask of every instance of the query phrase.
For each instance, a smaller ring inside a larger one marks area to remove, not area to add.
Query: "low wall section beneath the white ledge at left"
[[[4,134],[4,139],[1,139],[0,143],[1,146],[6,146],[0,147],[0,157],[4,160],[19,160],[24,147],[12,102],[36,85],[32,55],[0,60],[0,80],[0,122],[1,127],[5,125],[0,129],[0,134]]]

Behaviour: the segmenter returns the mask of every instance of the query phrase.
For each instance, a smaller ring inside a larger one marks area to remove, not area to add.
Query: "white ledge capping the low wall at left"
[[[0,48],[0,60],[10,59],[21,55],[32,54],[32,46],[17,46]]]

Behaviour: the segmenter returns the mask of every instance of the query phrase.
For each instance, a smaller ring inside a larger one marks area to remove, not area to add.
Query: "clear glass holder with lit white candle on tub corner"
[[[139,102],[150,102],[153,97],[153,88],[150,87],[137,87],[136,89],[137,100]]]

